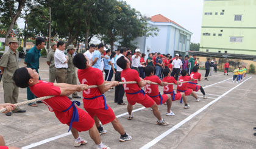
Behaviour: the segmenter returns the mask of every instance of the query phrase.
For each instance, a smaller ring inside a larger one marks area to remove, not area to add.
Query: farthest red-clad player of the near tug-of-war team
[[[198,69],[199,68],[197,66],[194,66],[194,68],[193,68],[193,70],[192,70],[192,72],[190,74],[190,77],[194,78],[194,81],[188,82],[188,88],[192,89],[195,92],[199,91],[199,89],[200,89],[200,91],[204,95],[204,99],[207,99],[207,96],[205,95],[205,91],[202,88],[202,86],[197,85],[197,80],[198,81],[202,80],[201,74],[198,72]]]

